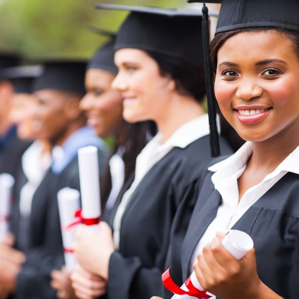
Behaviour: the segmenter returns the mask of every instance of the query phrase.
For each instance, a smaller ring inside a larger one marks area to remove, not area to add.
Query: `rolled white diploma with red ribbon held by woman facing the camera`
[[[254,246],[253,240],[248,234],[237,230],[230,230],[228,235],[222,240],[222,245],[237,260],[241,260]],[[171,279],[169,269],[163,273],[162,281],[169,291],[175,293],[172,299],[187,299],[194,297],[206,299],[213,296],[213,294],[206,292],[202,288],[194,271],[180,288]]]

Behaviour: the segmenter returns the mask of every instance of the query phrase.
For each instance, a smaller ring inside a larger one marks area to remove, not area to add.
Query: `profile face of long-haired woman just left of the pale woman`
[[[124,125],[123,104],[119,91],[111,89],[115,74],[91,68],[86,71],[86,95],[80,102],[87,125],[94,127],[98,136],[118,134]]]

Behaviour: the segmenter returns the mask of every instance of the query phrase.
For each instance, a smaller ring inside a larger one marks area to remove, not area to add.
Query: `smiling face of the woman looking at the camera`
[[[284,34],[238,33],[222,45],[217,61],[216,99],[243,139],[298,133],[299,59]]]

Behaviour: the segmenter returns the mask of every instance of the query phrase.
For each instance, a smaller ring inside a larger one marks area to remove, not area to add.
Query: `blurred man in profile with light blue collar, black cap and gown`
[[[63,187],[79,190],[80,147],[99,148],[100,169],[106,160],[106,145],[85,126],[86,118],[79,109],[85,93],[85,69],[86,63],[80,61],[47,62],[33,84],[33,126],[37,139],[50,142],[52,161],[37,188],[33,176],[39,180],[40,176],[32,173],[36,167],[25,170],[22,163],[16,176],[11,232],[14,246],[25,254],[26,262],[16,267],[1,260],[0,265],[0,285],[14,298],[55,298],[50,273],[64,263],[57,192]]]

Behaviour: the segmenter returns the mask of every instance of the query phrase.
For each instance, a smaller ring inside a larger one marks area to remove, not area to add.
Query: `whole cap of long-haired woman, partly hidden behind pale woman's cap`
[[[89,61],[87,68],[98,68],[117,74],[118,68],[114,64],[114,42],[116,33],[94,26],[89,26],[89,29],[96,34],[108,36],[111,40],[97,49]]]

